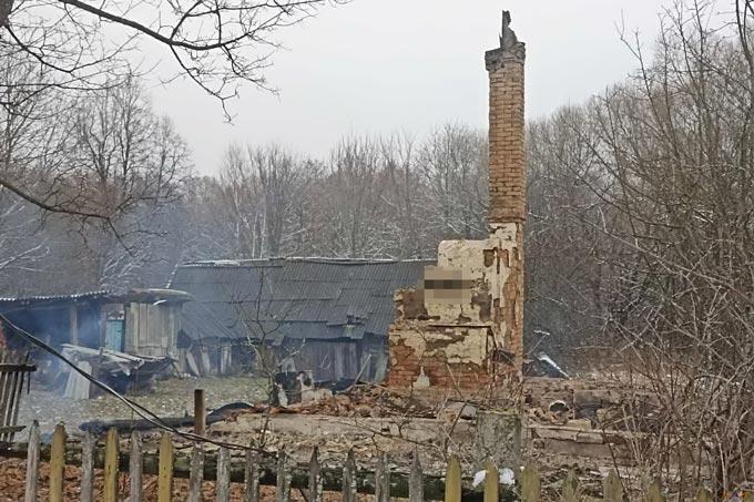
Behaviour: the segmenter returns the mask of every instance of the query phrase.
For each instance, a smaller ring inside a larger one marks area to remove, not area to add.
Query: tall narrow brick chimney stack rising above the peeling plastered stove
[[[524,59],[526,47],[510,29],[510,13],[503,11],[500,48],[485,54],[490,79],[488,222],[491,226],[526,219]]]

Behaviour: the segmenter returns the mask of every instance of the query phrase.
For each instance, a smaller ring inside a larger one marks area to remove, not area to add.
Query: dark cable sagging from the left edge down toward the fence
[[[192,440],[192,441],[211,443],[211,444],[215,444],[217,447],[227,448],[230,450],[255,450],[255,451],[257,451],[262,454],[266,454],[265,451],[252,448],[249,445],[231,443],[231,442],[225,442],[225,441],[217,441],[217,440],[214,440],[214,439],[211,439],[211,438],[206,438],[204,436],[194,434],[192,432],[183,432],[183,431],[181,431],[181,430],[179,430],[179,429],[176,429],[172,426],[169,426],[156,413],[154,413],[150,409],[145,408],[144,406],[139,404],[137,402],[132,401],[131,399],[122,396],[121,393],[119,393],[116,390],[114,390],[109,385],[106,385],[106,383],[98,380],[96,378],[92,377],[90,373],[88,373],[86,371],[79,368],[73,361],[68,359],[62,354],[60,354],[57,349],[54,349],[53,347],[50,347],[48,344],[45,344],[41,339],[37,338],[34,335],[30,334],[29,331],[21,328],[20,326],[13,324],[4,315],[0,314],[0,320],[6,322],[13,331],[21,335],[23,338],[29,340],[31,344],[35,345],[37,347],[41,348],[45,352],[51,354],[52,356],[57,357],[58,359],[60,359],[63,362],[65,362],[67,365],[69,365],[74,371],[80,373],[82,377],[84,377],[90,382],[94,383],[100,389],[104,390],[105,392],[108,392],[111,396],[114,396],[118,400],[123,402],[126,407],[129,407],[131,410],[133,410],[141,418],[143,418],[147,422],[152,423],[155,428],[162,429],[162,430],[167,431],[167,432],[172,432],[176,436],[181,436],[181,437],[186,438],[186,439]]]

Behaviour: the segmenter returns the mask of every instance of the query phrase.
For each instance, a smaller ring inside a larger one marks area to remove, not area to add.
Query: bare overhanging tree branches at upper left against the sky
[[[139,73],[133,63],[140,51],[157,48],[175,61],[175,76],[190,79],[220,100],[230,119],[225,103],[237,95],[242,83],[269,89],[264,70],[279,47],[277,30],[343,1],[1,0],[4,66],[32,64],[39,75],[2,81],[0,94],[19,86],[29,94],[50,88],[77,93],[118,88]],[[0,171],[0,186],[47,212],[106,222],[112,217],[101,207],[91,207],[89,201],[50,196],[51,191],[65,192],[59,184],[40,187],[11,174],[8,168]]]

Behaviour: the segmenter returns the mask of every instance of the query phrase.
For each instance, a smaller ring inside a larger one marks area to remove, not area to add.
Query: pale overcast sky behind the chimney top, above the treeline
[[[527,116],[580,103],[633,70],[618,25],[658,33],[661,0],[354,0],[278,39],[266,76],[278,95],[247,86],[233,124],[187,82],[154,85],[200,173],[216,173],[231,142],[277,142],[327,155],[339,137],[406,131],[421,137],[458,121],[487,126],[483,53],[498,45],[500,10],[527,43]]]

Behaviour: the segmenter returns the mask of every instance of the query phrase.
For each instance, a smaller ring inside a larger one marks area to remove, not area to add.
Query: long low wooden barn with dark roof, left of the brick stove
[[[269,371],[258,367],[265,347],[275,354],[275,371],[381,381],[394,291],[417,286],[427,263],[271,258],[180,266],[171,287],[195,299],[182,311],[182,367],[197,375]]]

